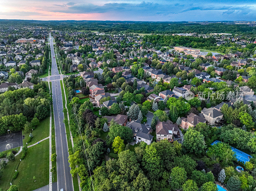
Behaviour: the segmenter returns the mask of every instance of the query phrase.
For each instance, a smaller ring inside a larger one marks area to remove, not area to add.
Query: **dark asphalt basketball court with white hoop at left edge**
[[[22,146],[22,132],[9,132],[0,136],[0,152]]]

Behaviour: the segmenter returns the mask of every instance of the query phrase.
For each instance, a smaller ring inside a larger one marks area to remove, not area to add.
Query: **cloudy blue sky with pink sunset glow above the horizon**
[[[256,0],[0,0],[0,19],[256,20]]]

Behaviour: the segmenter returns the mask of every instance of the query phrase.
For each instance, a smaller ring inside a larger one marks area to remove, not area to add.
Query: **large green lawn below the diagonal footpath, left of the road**
[[[19,191],[30,191],[49,184],[49,140],[28,148],[26,157],[18,167],[19,175],[12,184]],[[13,172],[12,172],[13,174]],[[34,182],[33,177],[36,177]],[[10,181],[9,181],[10,182]]]

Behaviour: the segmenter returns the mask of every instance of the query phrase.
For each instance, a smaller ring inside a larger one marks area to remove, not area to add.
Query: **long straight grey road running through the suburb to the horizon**
[[[52,75],[48,78],[52,82],[52,103],[53,115],[55,125],[55,144],[57,154],[57,187],[58,191],[63,188],[64,191],[73,191],[73,180],[70,174],[70,167],[68,163],[68,141],[66,136],[65,124],[63,123],[63,102],[60,86],[60,74],[58,71],[53,38],[49,36],[51,56],[52,56]]]

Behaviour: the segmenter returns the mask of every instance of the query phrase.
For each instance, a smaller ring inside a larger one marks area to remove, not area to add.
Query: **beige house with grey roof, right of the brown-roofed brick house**
[[[204,118],[210,123],[210,125],[214,125],[215,122],[220,122],[220,120],[222,120],[223,118],[223,114],[214,109],[213,107],[210,107],[210,108],[204,108],[202,111],[201,111],[201,114],[204,115]]]

